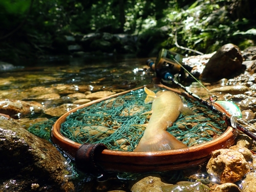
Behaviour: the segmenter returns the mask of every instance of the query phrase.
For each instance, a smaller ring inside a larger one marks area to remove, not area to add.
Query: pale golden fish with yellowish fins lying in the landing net
[[[173,125],[180,113],[194,114],[181,100],[179,95],[172,91],[159,91],[157,93],[144,87],[147,96],[144,103],[152,102],[152,113],[144,134],[134,152],[156,152],[177,150],[188,147],[179,141],[166,129]]]

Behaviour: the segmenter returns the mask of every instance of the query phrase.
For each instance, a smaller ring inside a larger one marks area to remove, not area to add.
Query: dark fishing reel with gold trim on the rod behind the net
[[[193,68],[184,65],[183,58],[182,55],[176,52],[162,49],[156,58],[156,62],[148,59],[146,63],[156,72],[156,76],[163,80],[171,80],[176,76],[179,81],[191,81],[186,72],[191,72]]]

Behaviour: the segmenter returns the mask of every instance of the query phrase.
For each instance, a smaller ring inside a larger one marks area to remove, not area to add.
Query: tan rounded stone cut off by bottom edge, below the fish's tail
[[[162,186],[167,186],[170,184],[164,183],[161,181],[160,176],[147,176],[142,179],[138,179],[135,181],[133,186],[131,187],[131,191],[133,192],[141,192],[141,191],[154,191],[154,192],[162,192]]]

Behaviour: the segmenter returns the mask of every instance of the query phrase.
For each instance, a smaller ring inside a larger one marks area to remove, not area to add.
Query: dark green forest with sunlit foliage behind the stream
[[[134,37],[137,55],[256,44],[255,0],[5,0],[0,17],[2,61],[70,54],[67,36],[103,32]]]

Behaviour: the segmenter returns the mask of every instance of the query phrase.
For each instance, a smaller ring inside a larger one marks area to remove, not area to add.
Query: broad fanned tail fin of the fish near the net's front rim
[[[161,130],[150,138],[141,138],[134,152],[156,152],[167,150],[178,150],[188,146],[176,139],[167,131]]]

